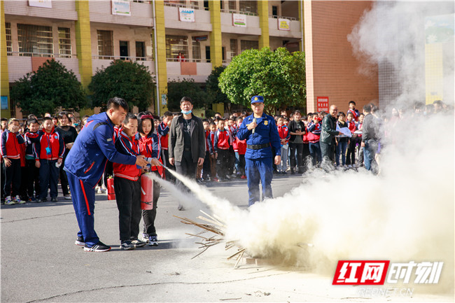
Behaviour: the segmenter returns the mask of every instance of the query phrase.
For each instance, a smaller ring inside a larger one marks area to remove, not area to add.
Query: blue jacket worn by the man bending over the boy
[[[106,113],[88,118],[66,156],[64,170],[95,187],[103,176],[107,160],[135,164],[135,156],[123,155],[116,150],[113,127]]]

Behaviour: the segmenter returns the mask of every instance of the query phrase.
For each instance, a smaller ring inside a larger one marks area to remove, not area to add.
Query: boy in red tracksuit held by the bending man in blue
[[[127,113],[118,132],[116,149],[124,155],[139,155],[137,117]],[[141,222],[141,168],[136,164],[113,163],[114,191],[118,208],[120,249],[129,251],[146,243],[137,238]]]

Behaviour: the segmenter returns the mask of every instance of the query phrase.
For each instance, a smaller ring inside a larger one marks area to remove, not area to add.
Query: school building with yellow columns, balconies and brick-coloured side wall
[[[84,87],[114,59],[144,64],[158,82],[151,108],[162,114],[169,80],[204,83],[215,66],[265,46],[305,51],[308,112],[327,100],[340,110],[350,100],[361,108],[379,100],[380,77],[358,73],[360,62],[346,36],[371,6],[372,1],[1,1],[1,116],[22,118],[9,87],[50,58],[71,69]],[[223,104],[214,110],[222,111]]]

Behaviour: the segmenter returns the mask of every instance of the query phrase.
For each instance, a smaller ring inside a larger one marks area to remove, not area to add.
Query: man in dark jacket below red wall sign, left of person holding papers
[[[322,120],[321,139],[319,139],[319,145],[321,146],[322,165],[326,170],[332,168],[333,166],[335,136],[342,134],[337,131],[337,113],[337,106],[332,105],[330,106],[329,114],[325,115]]]

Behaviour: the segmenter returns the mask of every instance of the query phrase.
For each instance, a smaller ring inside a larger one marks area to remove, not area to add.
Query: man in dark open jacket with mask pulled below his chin
[[[205,131],[201,118],[193,115],[193,100],[183,97],[180,101],[182,115],[174,118],[169,128],[169,163],[188,178],[196,178],[198,165],[204,163]],[[177,181],[177,185],[182,186]],[[179,211],[183,206],[179,204]]]

